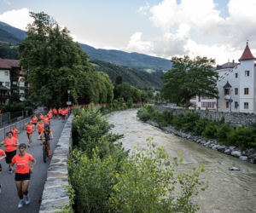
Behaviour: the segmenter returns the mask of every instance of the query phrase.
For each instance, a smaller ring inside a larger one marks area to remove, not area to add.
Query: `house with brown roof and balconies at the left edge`
[[[24,72],[21,72],[19,63],[20,60],[0,58],[0,105],[4,105],[6,101],[9,101],[9,95],[12,93],[20,95],[20,101],[25,99],[24,90],[20,89],[20,87],[25,86]]]

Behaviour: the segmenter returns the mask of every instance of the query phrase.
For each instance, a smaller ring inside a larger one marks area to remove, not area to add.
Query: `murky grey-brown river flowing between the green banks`
[[[120,140],[126,150],[147,145],[146,139],[154,137],[157,146],[166,147],[171,158],[182,154],[183,165],[178,170],[205,165],[201,181],[209,181],[209,188],[201,192],[197,201],[201,205],[199,212],[241,213],[256,212],[256,165],[238,158],[218,153],[193,141],[145,124],[137,118],[137,110],[112,112],[108,115],[109,124],[114,124],[113,133],[124,134]],[[138,147],[138,146],[137,146]],[[240,171],[230,171],[236,166]]]

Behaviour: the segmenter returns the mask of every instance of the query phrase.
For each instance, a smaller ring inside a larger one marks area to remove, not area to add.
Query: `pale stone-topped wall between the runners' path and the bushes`
[[[66,188],[63,186],[68,185],[67,159],[72,143],[72,118],[73,115],[67,119],[51,158],[39,213],[61,212],[62,206],[69,205]]]

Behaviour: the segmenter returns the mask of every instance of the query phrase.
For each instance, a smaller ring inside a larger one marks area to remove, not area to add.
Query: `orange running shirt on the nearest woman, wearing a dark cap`
[[[27,174],[29,173],[29,161],[32,160],[32,155],[25,153],[25,156],[20,158],[19,154],[16,154],[12,159],[12,162],[17,165],[16,173]]]

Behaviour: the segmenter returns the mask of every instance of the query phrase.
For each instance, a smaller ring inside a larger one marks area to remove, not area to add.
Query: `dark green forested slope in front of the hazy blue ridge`
[[[118,76],[122,76],[123,82],[130,83],[132,86],[141,89],[143,87],[154,87],[154,89],[159,90],[163,85],[159,77],[129,66],[119,66],[110,62],[92,58],[90,58],[90,63],[95,66],[96,71],[106,72],[112,83],[115,83],[115,79]]]

